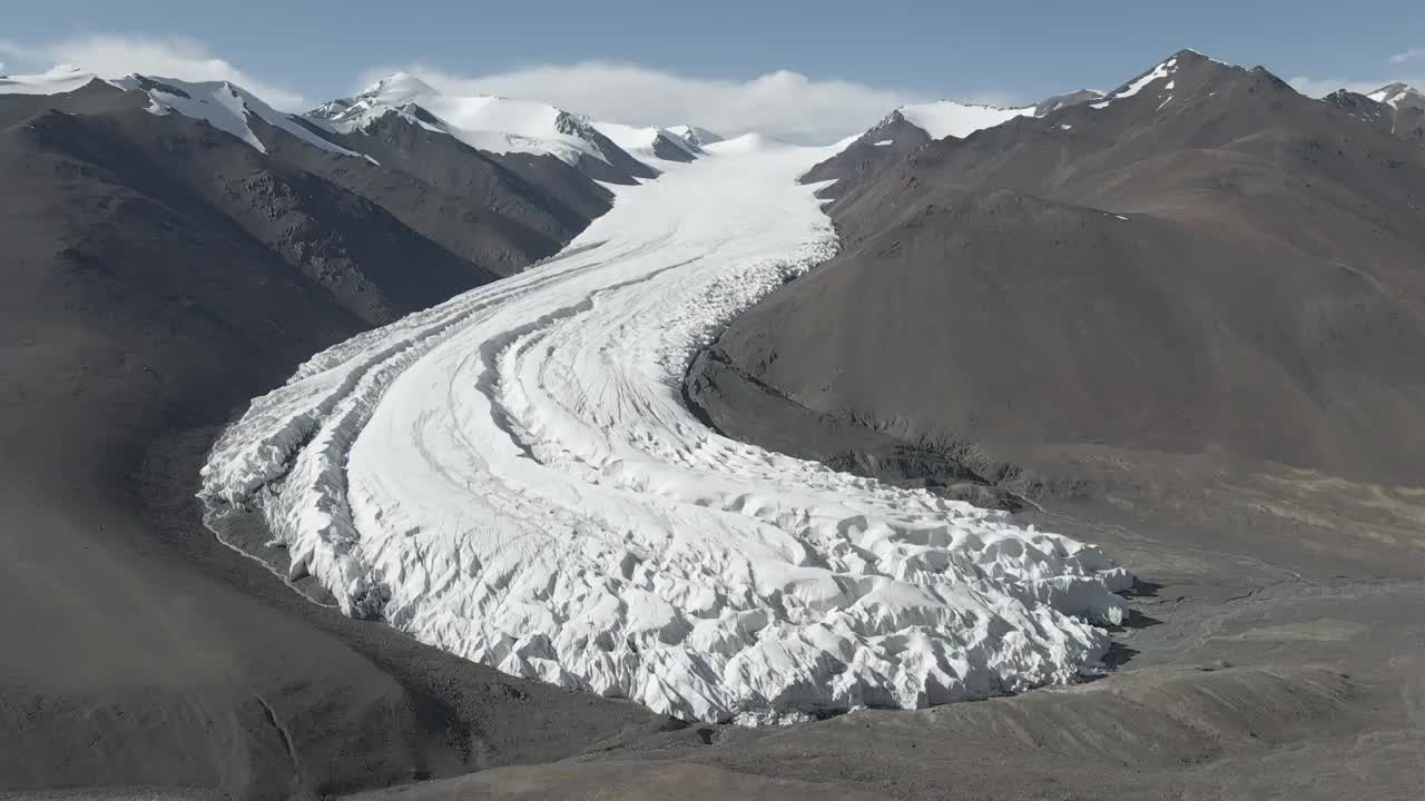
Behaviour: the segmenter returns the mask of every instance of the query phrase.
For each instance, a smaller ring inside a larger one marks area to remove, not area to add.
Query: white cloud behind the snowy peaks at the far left
[[[142,73],[185,81],[232,81],[276,108],[298,110],[305,105],[299,93],[234,67],[192,38],[101,34],[37,46],[0,40],[0,56],[36,70],[73,64],[105,78]]]

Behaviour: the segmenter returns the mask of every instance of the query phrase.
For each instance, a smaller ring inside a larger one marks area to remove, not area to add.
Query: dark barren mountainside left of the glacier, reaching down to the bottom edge
[[[392,261],[435,245],[177,115],[21,120],[0,174],[0,791],[309,797],[660,723],[346,620],[201,526],[217,426],[467,262]]]

